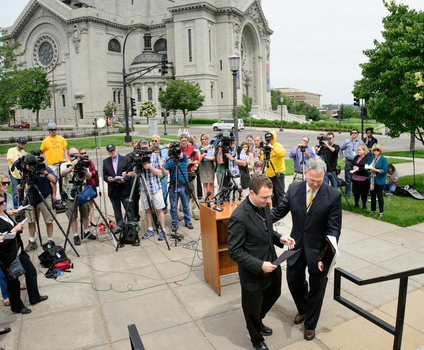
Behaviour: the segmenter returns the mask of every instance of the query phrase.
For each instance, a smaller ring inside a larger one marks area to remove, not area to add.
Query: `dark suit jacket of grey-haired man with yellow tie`
[[[337,241],[342,225],[341,193],[323,183],[306,211],[306,181],[291,183],[279,206],[271,210],[272,222],[276,222],[291,212],[293,228],[290,233],[296,241],[294,250],[299,252],[287,259],[292,266],[304,249],[308,270],[319,272],[318,253],[326,242],[326,235],[335,236]]]

